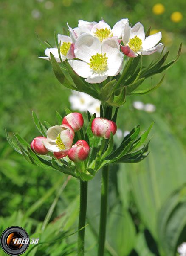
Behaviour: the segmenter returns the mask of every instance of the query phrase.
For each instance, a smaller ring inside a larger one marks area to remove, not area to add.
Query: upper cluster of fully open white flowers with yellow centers
[[[128,19],[121,19],[113,29],[104,20],[79,20],[78,27],[68,26],[68,31],[70,36],[58,34],[59,49],[47,48],[47,57],[39,58],[50,60],[51,52],[57,62],[67,59],[76,74],[88,83],[101,83],[108,76],[118,75],[124,55],[134,58],[163,49],[163,44],[158,44],[161,32],[145,38],[143,25],[138,22],[131,27]]]

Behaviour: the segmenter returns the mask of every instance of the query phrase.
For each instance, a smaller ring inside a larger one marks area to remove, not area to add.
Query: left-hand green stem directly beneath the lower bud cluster
[[[80,180],[80,209],[78,229],[85,227],[87,212],[87,188],[88,182]],[[85,228],[78,232],[78,256],[84,256]]]

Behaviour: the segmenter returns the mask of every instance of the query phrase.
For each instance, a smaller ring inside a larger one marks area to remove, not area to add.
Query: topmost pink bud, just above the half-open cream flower
[[[73,112],[63,118],[62,125],[68,124],[74,131],[79,131],[83,127],[83,122],[82,114]]]

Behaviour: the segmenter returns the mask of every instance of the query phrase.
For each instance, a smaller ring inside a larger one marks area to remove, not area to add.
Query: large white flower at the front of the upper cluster
[[[108,76],[116,76],[123,64],[123,54],[117,37],[98,38],[84,33],[76,39],[74,54],[80,60],[68,61],[73,70],[88,83],[101,83]]]

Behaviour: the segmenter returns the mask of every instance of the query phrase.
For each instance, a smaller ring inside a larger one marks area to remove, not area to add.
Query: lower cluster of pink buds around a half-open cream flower
[[[62,119],[62,125],[54,125],[48,128],[47,137],[36,137],[31,142],[31,150],[35,154],[45,155],[52,152],[54,157],[63,158],[68,155],[75,163],[85,161],[89,155],[90,147],[85,140],[78,140],[74,145],[75,132],[84,124],[81,113],[73,112]],[[111,132],[116,133],[115,122],[105,118],[93,119],[91,129],[96,137],[110,138]]]

